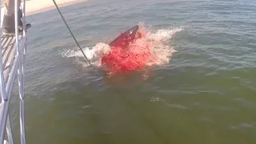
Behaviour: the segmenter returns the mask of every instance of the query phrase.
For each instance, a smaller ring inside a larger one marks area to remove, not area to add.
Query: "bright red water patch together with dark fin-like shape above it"
[[[140,70],[152,59],[149,46],[146,43],[137,44],[137,40],[146,34],[138,25],[121,33],[110,42],[110,52],[102,55],[102,68],[110,75]]]

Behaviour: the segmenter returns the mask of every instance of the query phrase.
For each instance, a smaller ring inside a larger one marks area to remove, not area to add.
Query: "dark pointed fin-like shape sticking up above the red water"
[[[138,25],[130,28],[129,30],[126,30],[126,32],[121,33],[118,38],[115,38],[114,41],[110,42],[111,47],[122,47],[126,48],[130,44],[130,42],[133,42],[135,38],[137,38],[137,32],[138,32]]]

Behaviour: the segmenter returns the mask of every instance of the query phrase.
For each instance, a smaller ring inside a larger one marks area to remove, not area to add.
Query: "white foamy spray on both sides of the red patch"
[[[145,30],[145,26],[142,22],[139,23],[140,30]],[[150,32],[150,29],[145,30],[146,37],[142,39],[138,39],[134,42],[133,47],[138,47],[145,42],[150,43],[150,52],[154,55],[154,61],[148,61],[146,63],[147,66],[161,66],[169,63],[170,58],[174,52],[173,46],[170,44],[170,38],[174,36],[174,34],[182,31],[182,28],[173,28],[170,30],[160,29],[155,32]],[[104,54],[108,54],[110,52],[110,46],[105,42],[98,42],[95,46],[85,47],[82,49],[86,54],[86,57],[90,60],[90,62],[94,66],[102,66],[101,59]],[[133,49],[135,50],[135,49]],[[136,49],[138,50],[138,49]],[[133,51],[134,52],[134,51]],[[136,53],[139,53],[136,51]],[[82,66],[88,66],[84,61],[83,54],[80,50],[66,50],[61,53],[62,57],[66,58],[75,58],[78,64],[82,64]]]

